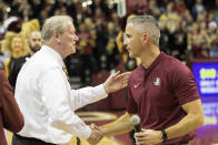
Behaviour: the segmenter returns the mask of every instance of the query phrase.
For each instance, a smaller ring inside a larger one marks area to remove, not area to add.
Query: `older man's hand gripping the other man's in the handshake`
[[[87,141],[89,142],[89,144],[96,145],[103,137],[103,133],[102,131],[100,131],[100,128],[96,124],[91,124],[90,128],[91,128],[91,135]]]

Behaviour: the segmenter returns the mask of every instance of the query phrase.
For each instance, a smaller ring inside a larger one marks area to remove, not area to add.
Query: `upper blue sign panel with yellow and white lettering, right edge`
[[[192,73],[200,97],[218,97],[218,62],[194,63]]]

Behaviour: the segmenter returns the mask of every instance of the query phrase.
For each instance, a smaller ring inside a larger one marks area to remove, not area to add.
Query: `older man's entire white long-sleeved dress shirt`
[[[66,144],[72,135],[89,138],[91,130],[75,111],[108,96],[103,85],[71,90],[63,61],[42,45],[22,66],[16,84],[16,100],[24,116],[18,134],[48,143]]]

